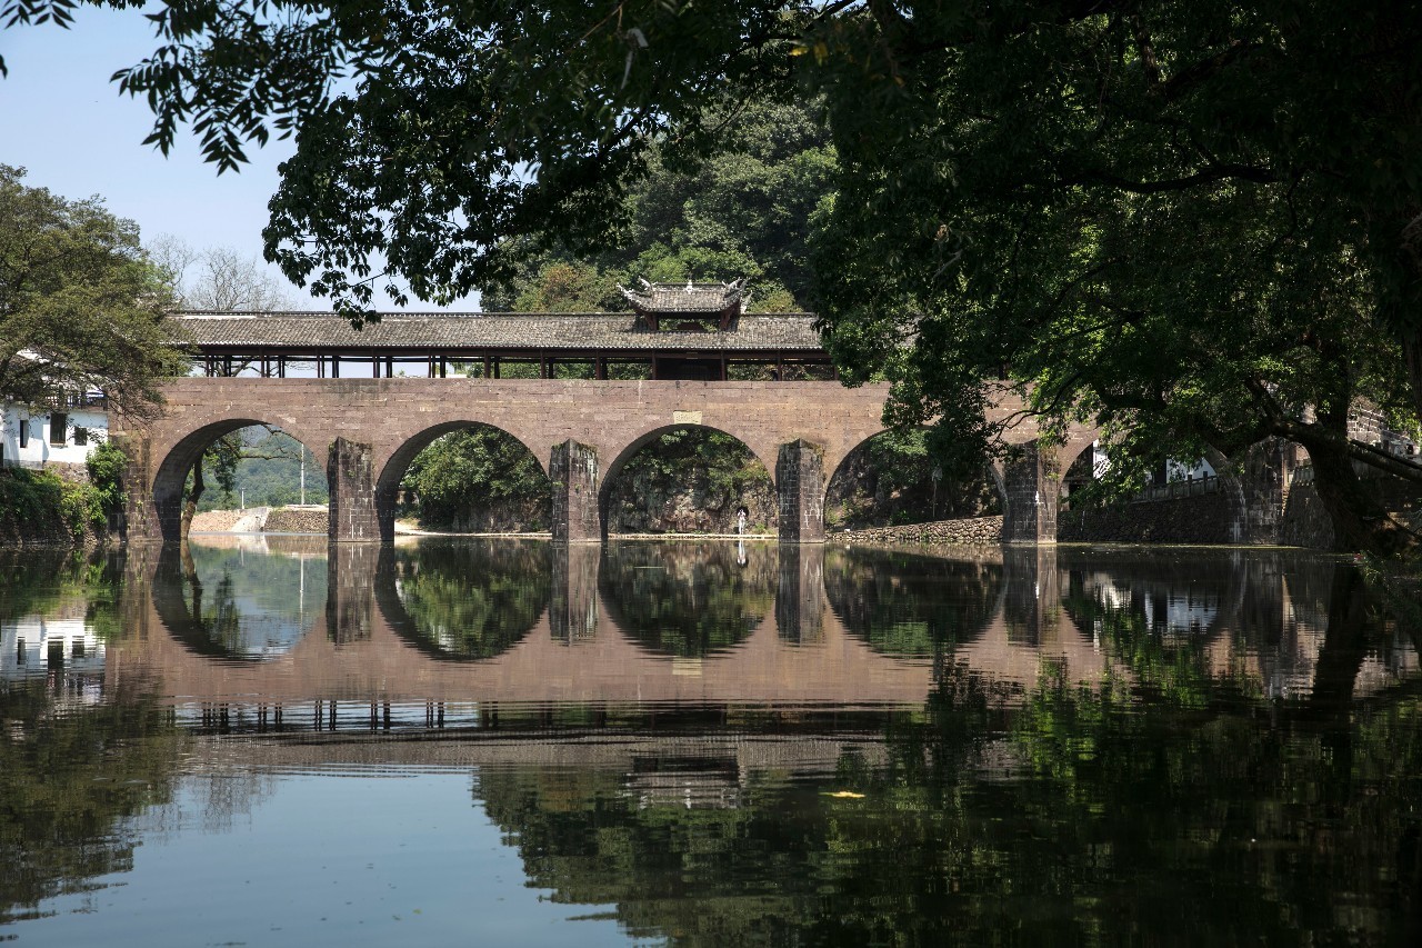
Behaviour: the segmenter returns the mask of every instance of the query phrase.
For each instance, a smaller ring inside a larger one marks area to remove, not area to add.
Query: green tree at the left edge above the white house
[[[97,198],[67,201],[23,178],[0,165],[0,399],[63,404],[100,390],[124,414],[151,416],[159,383],[186,362],[138,228]]]

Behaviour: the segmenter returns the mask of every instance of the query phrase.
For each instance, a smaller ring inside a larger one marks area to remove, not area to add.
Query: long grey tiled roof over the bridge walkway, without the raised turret
[[[742,315],[727,332],[656,332],[636,313],[387,313],[365,329],[331,313],[176,313],[201,347],[822,352],[811,313]]]

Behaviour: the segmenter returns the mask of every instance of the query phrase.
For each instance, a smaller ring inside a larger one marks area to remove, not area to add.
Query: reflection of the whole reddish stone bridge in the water
[[[225,727],[384,730],[488,725],[515,706],[914,706],[950,670],[1012,703],[1048,678],[1130,683],[1140,649],[1121,642],[1136,636],[1288,696],[1314,686],[1335,567],[1281,562],[1250,554],[1212,569],[1052,547],[943,558],[727,542],[193,544],[188,557],[134,554],[128,588],[149,595],[129,599],[134,633],[109,648],[105,675],[156,678]],[[1412,655],[1359,653],[1335,686],[1382,686],[1406,670],[1389,660]]]

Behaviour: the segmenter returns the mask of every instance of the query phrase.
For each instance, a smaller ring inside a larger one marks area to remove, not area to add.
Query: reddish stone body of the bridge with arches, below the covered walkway
[[[471,424],[501,428],[539,458],[553,481],[553,537],[599,542],[606,485],[633,453],[684,426],[741,440],[765,464],[779,497],[784,542],[825,538],[825,493],[845,458],[884,430],[889,386],[836,381],[695,381],[557,379],[293,379],[189,377],[165,386],[166,410],[114,434],[128,450],[129,541],[179,538],[182,488],[199,453],[250,424],[270,424],[326,458],[330,538],[394,538],[395,501],[410,461],[437,437]],[[1096,438],[1074,428],[1055,451],[1035,447],[1038,428],[1020,399],[1003,393],[990,420],[1021,458],[997,470],[1008,542],[1052,542],[1058,481]]]

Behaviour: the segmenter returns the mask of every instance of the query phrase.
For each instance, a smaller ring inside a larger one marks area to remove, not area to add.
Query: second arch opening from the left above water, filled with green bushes
[[[381,535],[395,517],[424,530],[518,534],[547,530],[553,490],[529,447],[502,428],[439,424],[405,441],[375,487]]]

